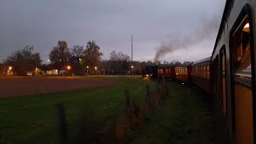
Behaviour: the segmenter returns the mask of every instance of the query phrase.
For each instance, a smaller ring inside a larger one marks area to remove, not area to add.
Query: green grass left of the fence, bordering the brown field
[[[110,80],[98,78],[105,79]],[[0,143],[58,143],[59,102],[65,105],[69,139],[74,140],[81,119],[108,127],[122,113],[124,90],[131,90],[131,97],[140,101],[146,95],[146,84],[154,85],[141,78],[111,79],[117,82],[116,86],[1,99]]]

